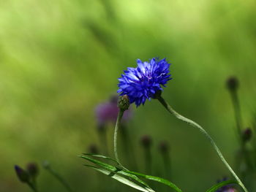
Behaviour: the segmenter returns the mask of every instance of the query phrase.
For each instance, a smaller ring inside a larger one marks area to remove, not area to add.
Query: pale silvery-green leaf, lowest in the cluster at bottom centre
[[[117,174],[116,172],[111,172],[106,169],[98,168],[96,166],[91,166],[91,165],[85,165],[89,166],[94,170],[97,170],[98,172],[102,172],[103,174],[108,175],[109,177],[118,180],[120,183],[124,183],[125,185],[129,185],[132,188],[138,189],[139,191],[144,191],[144,192],[154,192],[151,188],[147,188],[146,186],[140,186],[137,183],[134,183],[132,180],[128,180],[125,177],[122,177],[121,175]]]

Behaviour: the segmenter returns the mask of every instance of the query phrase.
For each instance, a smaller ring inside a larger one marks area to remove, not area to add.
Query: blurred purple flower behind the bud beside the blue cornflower
[[[116,123],[118,115],[117,107],[118,96],[111,96],[109,101],[98,104],[95,109],[98,126],[104,126],[106,123]],[[129,120],[132,116],[132,110],[126,110],[122,122]]]

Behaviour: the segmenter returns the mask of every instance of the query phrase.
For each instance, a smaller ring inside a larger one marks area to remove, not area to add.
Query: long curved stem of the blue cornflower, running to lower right
[[[236,178],[236,180],[238,181],[239,185],[241,185],[241,187],[244,189],[244,191],[248,192],[246,187],[244,186],[244,184],[241,182],[241,180],[239,179],[239,177],[236,175],[236,173],[233,171],[233,169],[231,168],[231,166],[227,163],[227,161],[225,160],[225,158],[223,157],[222,153],[219,150],[219,147],[217,147],[216,143],[214,142],[214,139],[211,138],[211,136],[206,132],[206,130],[203,129],[203,127],[201,127],[200,125],[198,125],[197,123],[195,123],[194,121],[185,118],[184,116],[178,114],[178,112],[176,112],[175,110],[173,110],[172,107],[170,107],[169,104],[167,104],[167,102],[165,101],[165,99],[162,98],[162,96],[159,96],[159,98],[157,98],[160,103],[165,107],[165,109],[170,112],[171,114],[173,114],[176,118],[178,118],[179,120],[183,120],[184,122],[188,123],[190,126],[193,126],[195,128],[198,128],[201,133],[203,133],[207,139],[210,140],[211,145],[213,145],[214,150],[217,151],[219,158],[222,160],[222,162],[225,164],[225,166],[227,167],[227,169],[229,169],[229,171],[231,172],[231,174],[233,174],[233,176]]]

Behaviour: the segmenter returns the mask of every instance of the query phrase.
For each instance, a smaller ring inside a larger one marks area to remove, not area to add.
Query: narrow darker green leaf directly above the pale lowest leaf
[[[143,180],[140,180],[137,176],[135,176],[134,174],[129,174],[127,172],[124,172],[124,170],[116,167],[116,166],[111,166],[110,164],[105,164],[103,163],[102,161],[98,161],[98,160],[95,160],[93,158],[89,158],[87,156],[79,156],[80,158],[85,158],[86,160],[88,161],[91,161],[92,163],[94,164],[97,164],[98,166],[101,166],[102,168],[104,169],[107,169],[108,171],[110,172],[115,172],[115,173],[118,173],[118,174],[123,174],[127,177],[130,177],[132,178],[133,180],[136,180],[138,183],[140,183],[141,185],[143,185],[145,188],[147,188],[148,191],[151,191],[151,192],[154,192],[153,189],[151,189],[148,184],[146,184],[145,182],[143,182]]]

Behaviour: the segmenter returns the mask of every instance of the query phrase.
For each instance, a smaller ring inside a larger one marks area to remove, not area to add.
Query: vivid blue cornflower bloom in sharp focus
[[[136,106],[144,104],[150,99],[170,78],[170,64],[166,59],[159,60],[152,58],[149,62],[137,60],[138,67],[128,67],[121,78],[118,78],[118,93],[129,96],[130,103],[135,102]]]

